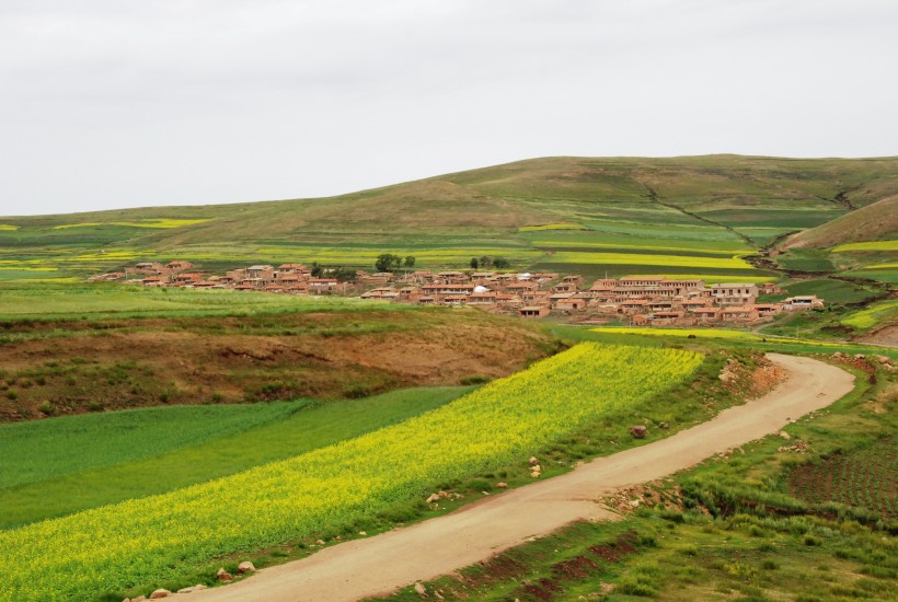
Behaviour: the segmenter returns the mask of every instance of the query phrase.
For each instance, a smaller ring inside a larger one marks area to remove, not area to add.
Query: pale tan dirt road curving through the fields
[[[490,496],[456,512],[322,549],[231,586],[179,595],[185,602],[337,602],[389,593],[485,560],[576,520],[610,516],[596,500],[620,487],[688,468],[782,428],[852,390],[854,377],[827,363],[769,354],[788,379],[768,395],[640,448],[562,476]],[[189,598],[187,598],[187,595]]]

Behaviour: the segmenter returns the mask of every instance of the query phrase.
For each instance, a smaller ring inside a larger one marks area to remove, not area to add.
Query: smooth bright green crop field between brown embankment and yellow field
[[[398,424],[473,389],[406,389],[334,402],[148,408],[3,425],[0,529],[292,458]]]

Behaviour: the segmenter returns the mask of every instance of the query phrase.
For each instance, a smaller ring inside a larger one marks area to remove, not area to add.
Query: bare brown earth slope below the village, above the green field
[[[549,336],[476,311],[28,325],[2,347],[0,421],[158,404],[358,397],[504,377]],[[43,329],[42,329],[43,328]],[[39,338],[62,331],[65,336]]]

